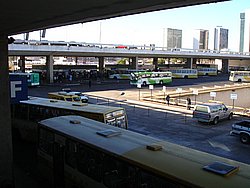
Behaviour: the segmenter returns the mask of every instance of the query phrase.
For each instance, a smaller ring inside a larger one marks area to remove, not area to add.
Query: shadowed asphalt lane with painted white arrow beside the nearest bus
[[[250,164],[250,145],[242,144],[239,138],[229,135],[231,125],[244,119],[242,117],[208,125],[181,113],[123,107],[132,131]]]

